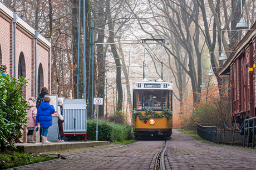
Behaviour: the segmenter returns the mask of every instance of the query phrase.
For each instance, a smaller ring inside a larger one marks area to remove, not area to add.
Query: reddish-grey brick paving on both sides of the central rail
[[[256,151],[196,141],[173,130],[165,152],[166,169],[256,169]],[[114,150],[91,152],[20,169],[153,169],[163,141],[138,141]]]

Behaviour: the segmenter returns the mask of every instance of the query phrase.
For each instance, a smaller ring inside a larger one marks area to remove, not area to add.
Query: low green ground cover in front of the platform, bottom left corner
[[[24,166],[26,164],[50,161],[52,159],[55,159],[55,158],[40,156],[38,154],[28,154],[28,153],[18,153],[18,152],[0,153],[0,169],[19,167],[19,166]]]

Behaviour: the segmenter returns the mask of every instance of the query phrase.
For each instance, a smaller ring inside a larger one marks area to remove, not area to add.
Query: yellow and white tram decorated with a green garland
[[[133,87],[132,128],[135,138],[169,138],[173,128],[173,83],[143,79]]]

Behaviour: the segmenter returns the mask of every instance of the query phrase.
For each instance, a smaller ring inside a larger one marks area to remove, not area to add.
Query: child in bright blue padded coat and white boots
[[[48,128],[52,126],[52,114],[55,113],[55,109],[50,105],[51,98],[45,96],[41,105],[37,109],[36,122],[40,123],[42,128],[42,143],[51,143],[47,141]]]

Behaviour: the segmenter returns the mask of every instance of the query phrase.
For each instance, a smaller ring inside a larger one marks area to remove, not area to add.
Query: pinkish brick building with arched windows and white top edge
[[[13,11],[0,2],[0,64],[7,65],[7,73],[10,76],[14,76],[15,68],[16,78],[22,76],[28,79],[28,84],[23,91],[23,98],[28,100],[31,96],[35,97],[35,68],[37,68],[37,95],[41,93],[42,87],[47,87],[51,91],[51,43],[38,34],[35,45],[35,29],[20,17],[17,17],[17,22],[14,24],[13,18]],[[16,29],[14,29],[15,25]],[[16,30],[15,33],[14,30]],[[14,34],[16,37],[15,67]],[[37,56],[35,56],[35,47]],[[24,130],[23,140],[26,141],[26,128]],[[37,132],[38,140],[39,131]]]

